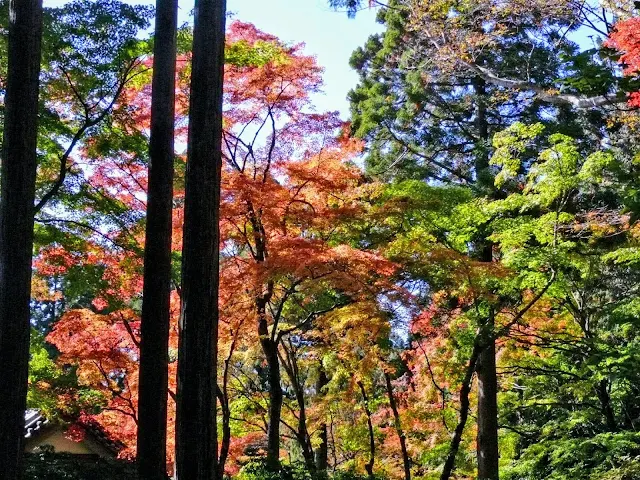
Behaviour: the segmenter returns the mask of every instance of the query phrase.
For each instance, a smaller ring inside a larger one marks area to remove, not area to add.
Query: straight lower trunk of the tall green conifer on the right
[[[478,479],[498,479],[498,377],[493,338],[482,350],[478,375]]]

